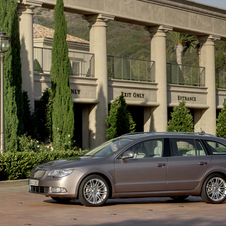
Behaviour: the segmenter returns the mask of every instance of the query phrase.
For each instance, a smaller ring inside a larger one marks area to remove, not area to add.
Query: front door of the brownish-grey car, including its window
[[[167,157],[162,157],[163,139],[153,139],[132,146],[134,158],[115,160],[116,192],[166,190]]]

